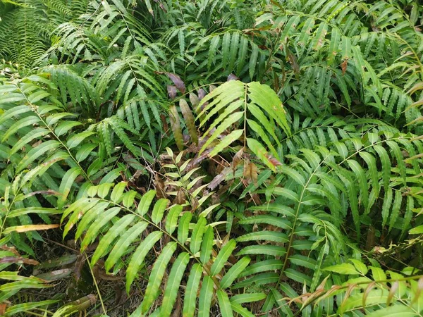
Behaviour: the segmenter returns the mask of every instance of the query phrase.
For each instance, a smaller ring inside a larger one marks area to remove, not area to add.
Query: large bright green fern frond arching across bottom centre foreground
[[[90,187],[87,191],[88,197],[75,201],[64,211],[63,218],[68,217],[69,220],[63,234],[66,235],[73,225],[79,223],[76,237],[80,237],[86,230],[81,244],[82,249],[85,249],[107,229],[92,256],[91,264],[94,265],[102,256],[106,256],[105,267],[110,271],[116,266],[118,259],[125,255],[128,258],[127,292],[130,291],[140,267],[146,265],[150,250],[159,240],[167,241],[161,247],[157,259],[152,262],[144,299],[133,316],[153,310],[160,316],[170,316],[180,292],[180,283],[185,270],[188,275],[183,306],[185,316],[194,316],[199,289],[198,316],[209,316],[210,306],[214,300],[219,303],[221,311],[228,315],[235,309],[248,313],[243,306],[233,306],[226,291],[250,262],[245,256],[231,268],[226,268],[226,262],[236,247],[235,240],[226,242],[216,251],[216,256],[212,259],[214,244],[217,243],[213,223],[207,224],[206,218],[192,216],[190,211],[184,212],[180,205],[168,207],[167,199],[159,199],[152,206],[152,211],[149,211],[155,191],[147,192],[135,209],[133,205],[137,193],[124,192],[126,185],[125,182],[118,183],[111,192],[109,192],[111,184],[107,183]],[[104,216],[96,220],[95,215],[100,213]],[[118,216],[119,213],[126,214]],[[78,214],[82,215],[79,219]],[[139,239],[140,235],[145,235],[144,239],[138,243],[135,250],[128,253],[128,248]],[[173,263],[170,263],[171,259],[174,259]],[[170,273],[165,283],[161,304],[155,306],[154,302],[159,297],[166,267],[169,267]]]

